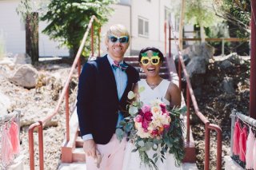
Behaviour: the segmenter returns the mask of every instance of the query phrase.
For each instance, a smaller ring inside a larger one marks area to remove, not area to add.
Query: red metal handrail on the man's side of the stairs
[[[32,125],[30,125],[29,128],[29,152],[30,152],[30,169],[34,170],[34,136],[33,136],[33,132],[34,132],[34,128],[38,127],[38,147],[39,147],[39,168],[42,170],[43,167],[43,125],[47,122],[50,121],[56,114],[58,114],[58,110],[60,109],[60,106],[62,104],[62,101],[64,99],[65,96],[65,108],[66,108],[66,141],[70,140],[70,106],[69,106],[69,84],[71,81],[71,77],[74,73],[74,70],[76,69],[76,66],[78,66],[78,77],[80,76],[80,72],[81,72],[81,61],[80,61],[80,56],[82,53],[82,49],[83,46],[86,43],[86,38],[88,37],[88,34],[91,30],[91,37],[92,37],[92,42],[91,42],[91,48],[92,48],[92,55],[94,55],[94,45],[93,45],[93,38],[94,38],[94,27],[93,27],[93,22],[94,20],[96,22],[99,23],[98,19],[95,16],[92,16],[90,18],[90,22],[89,25],[87,27],[86,33],[84,34],[83,38],[82,38],[82,43],[78,49],[78,53],[75,56],[74,59],[74,63],[70,69],[70,74],[66,79],[66,84],[64,85],[64,88],[62,89],[62,93],[58,99],[58,104],[54,109],[53,113],[50,113],[50,115],[48,115],[47,117],[43,118],[41,121],[38,121]],[[100,30],[99,30],[100,31]],[[100,40],[98,38],[98,40]],[[100,42],[98,42],[98,45],[100,45]],[[99,47],[100,49],[100,47]],[[98,50],[98,56],[100,55],[100,50]]]

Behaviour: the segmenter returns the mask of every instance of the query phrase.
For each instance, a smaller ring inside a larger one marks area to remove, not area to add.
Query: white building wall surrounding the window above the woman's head
[[[165,6],[170,8],[168,0],[146,0],[131,2],[132,21],[132,50],[134,53],[147,46],[154,46],[164,53],[164,20]],[[149,36],[142,38],[138,35],[138,18],[146,18],[149,21]]]

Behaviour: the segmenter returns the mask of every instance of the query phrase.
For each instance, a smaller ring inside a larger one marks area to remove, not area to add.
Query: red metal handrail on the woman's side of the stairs
[[[165,25],[166,27],[166,25]],[[171,22],[169,23],[169,57],[171,57],[171,49],[170,49],[170,40],[171,35],[170,32],[174,31],[172,30]],[[166,30],[166,28],[165,28]],[[166,31],[165,31],[166,32]],[[187,113],[186,113],[186,144],[190,144],[190,101],[192,101],[192,104],[194,106],[194,112],[199,117],[199,119],[204,123],[206,127],[205,131],[205,168],[206,170],[209,170],[210,166],[210,130],[214,130],[217,132],[217,169],[222,169],[222,128],[220,128],[218,125],[210,124],[210,121],[207,120],[207,118],[200,112],[198,109],[198,103],[196,101],[196,98],[194,96],[194,91],[192,89],[192,85],[190,83],[190,77],[186,71],[186,66],[184,64],[183,58],[182,58],[182,52],[179,49],[177,38],[174,35],[174,42],[178,49],[178,77],[179,77],[179,88],[182,89],[182,71],[184,73],[184,76],[186,77],[186,107],[187,107]],[[169,65],[168,65],[169,66]],[[170,67],[170,66],[169,66]],[[171,68],[169,68],[171,69]]]

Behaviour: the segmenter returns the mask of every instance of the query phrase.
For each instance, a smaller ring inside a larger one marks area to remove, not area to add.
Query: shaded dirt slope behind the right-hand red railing
[[[210,81],[214,77],[215,81]],[[220,84],[224,77],[232,77],[234,80],[234,94],[223,93]],[[202,93],[196,95],[198,107],[210,123],[222,128],[222,168],[224,169],[223,156],[230,155],[230,113],[232,109],[248,115],[249,114],[249,83],[250,83],[250,61],[244,65],[235,65],[232,69],[219,69],[215,62],[208,66],[206,77],[204,77]],[[196,143],[197,166],[204,168],[204,132],[205,128],[195,114],[192,115],[192,131]],[[210,169],[216,169],[217,138],[216,132],[210,135]]]

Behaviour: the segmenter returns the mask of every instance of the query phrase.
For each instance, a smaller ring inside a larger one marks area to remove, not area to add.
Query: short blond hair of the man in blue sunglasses
[[[110,35],[128,36],[128,45],[130,45],[130,34],[126,26],[122,26],[121,24],[110,26],[109,30],[106,31],[105,43],[109,41]]]

